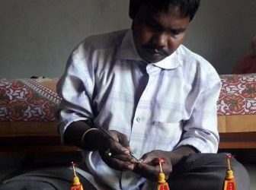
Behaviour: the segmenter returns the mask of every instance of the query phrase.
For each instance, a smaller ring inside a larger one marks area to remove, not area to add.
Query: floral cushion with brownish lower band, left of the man
[[[56,136],[58,79],[0,80],[0,137]]]

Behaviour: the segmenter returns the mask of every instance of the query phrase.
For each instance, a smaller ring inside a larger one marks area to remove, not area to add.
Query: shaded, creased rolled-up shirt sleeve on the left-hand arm
[[[62,98],[57,114],[62,141],[64,131],[72,122],[93,118],[94,74],[85,52],[84,46],[78,46],[69,57],[66,71],[57,84],[57,92]]]

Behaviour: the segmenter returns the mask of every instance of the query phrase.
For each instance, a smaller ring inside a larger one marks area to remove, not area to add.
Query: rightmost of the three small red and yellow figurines
[[[227,169],[226,169],[226,177],[224,182],[224,190],[236,190],[235,184],[235,176],[231,169],[230,159],[232,158],[231,154],[226,154],[227,160]]]

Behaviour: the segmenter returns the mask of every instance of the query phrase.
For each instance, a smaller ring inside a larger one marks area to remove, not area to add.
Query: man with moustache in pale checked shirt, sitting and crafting
[[[159,158],[171,189],[223,188],[219,76],[181,45],[199,4],[131,0],[131,30],[88,37],[70,55],[58,84],[59,132],[83,150],[77,172],[86,190],[156,189]],[[238,189],[249,189],[245,168],[235,159],[232,167]]]

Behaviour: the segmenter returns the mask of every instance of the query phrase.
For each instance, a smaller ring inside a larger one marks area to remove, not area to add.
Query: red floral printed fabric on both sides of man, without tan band
[[[256,74],[220,78],[218,116],[256,114]],[[0,121],[53,122],[60,101],[36,80],[0,80]]]

